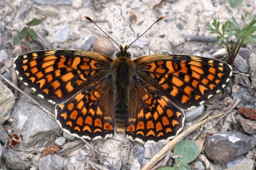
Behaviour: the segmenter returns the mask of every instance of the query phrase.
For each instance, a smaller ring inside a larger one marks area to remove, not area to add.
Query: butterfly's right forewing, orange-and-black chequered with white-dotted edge
[[[232,75],[225,62],[193,55],[148,55],[134,63],[143,80],[185,110],[220,92]]]

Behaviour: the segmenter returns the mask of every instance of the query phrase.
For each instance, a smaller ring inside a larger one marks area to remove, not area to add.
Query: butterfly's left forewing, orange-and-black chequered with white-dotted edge
[[[112,59],[95,52],[44,50],[20,55],[16,72],[25,85],[52,103],[66,101],[77,89],[104,77]]]

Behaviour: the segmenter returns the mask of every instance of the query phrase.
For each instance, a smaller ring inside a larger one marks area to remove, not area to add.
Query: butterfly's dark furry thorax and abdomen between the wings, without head
[[[134,63],[128,57],[118,57],[113,61],[113,80],[115,81],[114,103],[117,132],[124,132],[127,126],[128,106]]]

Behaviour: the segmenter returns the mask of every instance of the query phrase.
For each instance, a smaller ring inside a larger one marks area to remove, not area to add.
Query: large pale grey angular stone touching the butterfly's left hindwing
[[[12,118],[13,130],[19,132],[22,141],[25,141],[19,144],[21,150],[29,151],[29,148],[36,145],[40,147],[59,129],[54,119],[24,95],[20,95],[19,101],[15,104]]]

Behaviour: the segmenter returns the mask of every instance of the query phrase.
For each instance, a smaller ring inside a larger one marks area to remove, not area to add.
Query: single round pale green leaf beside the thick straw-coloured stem
[[[199,148],[195,142],[189,140],[182,140],[175,146],[173,153],[181,155],[179,159],[175,159],[177,164],[188,164],[196,159],[199,155]]]

